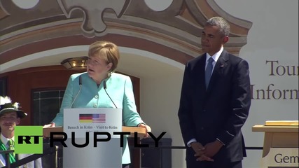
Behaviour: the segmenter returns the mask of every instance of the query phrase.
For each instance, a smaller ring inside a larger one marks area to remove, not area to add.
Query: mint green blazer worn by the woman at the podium
[[[71,108],[116,108],[113,104],[114,102],[118,109],[123,109],[123,124],[125,126],[136,127],[139,123],[144,123],[139,113],[137,113],[132,81],[129,76],[112,73],[109,78],[105,79],[106,91],[113,100],[111,102],[104,90],[103,82],[98,87],[95,80],[90,78],[87,72],[84,72],[73,74],[69,78],[60,112],[57,113],[57,116],[52,121],[56,126],[63,125],[63,111],[64,109],[69,109],[80,89],[79,76],[82,78],[82,89]],[[122,162],[123,164],[130,163],[127,139],[124,139]]]

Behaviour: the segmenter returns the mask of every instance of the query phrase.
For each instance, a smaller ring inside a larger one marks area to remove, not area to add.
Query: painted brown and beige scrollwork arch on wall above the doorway
[[[22,1],[21,5],[0,1],[0,64],[42,50],[87,44],[88,39],[101,36],[129,41],[118,45],[156,52],[184,64],[201,53],[201,30],[207,18],[221,15],[230,22],[231,40],[225,48],[236,55],[252,25],[206,0],[176,0],[162,11],[137,0],[32,1],[32,8],[21,8]]]

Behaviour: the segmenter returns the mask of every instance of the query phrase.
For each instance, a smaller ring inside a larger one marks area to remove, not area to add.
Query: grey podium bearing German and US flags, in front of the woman
[[[56,140],[62,140],[64,145],[64,168],[121,167],[122,158],[127,160],[130,151],[126,138],[120,134],[129,132],[141,138],[146,133],[137,127],[123,128],[122,123],[122,109],[64,109],[64,127],[45,128],[43,135],[63,134],[56,137],[63,139]]]

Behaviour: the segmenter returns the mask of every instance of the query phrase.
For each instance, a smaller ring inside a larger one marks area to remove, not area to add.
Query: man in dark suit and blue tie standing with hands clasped
[[[249,115],[249,64],[223,50],[230,26],[220,17],[202,31],[203,55],[186,64],[179,122],[188,168],[241,168],[241,128]]]

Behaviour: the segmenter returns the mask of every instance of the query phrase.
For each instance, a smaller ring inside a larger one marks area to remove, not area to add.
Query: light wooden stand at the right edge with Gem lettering
[[[298,167],[298,120],[266,121],[253,132],[265,132],[262,167]],[[291,165],[293,164],[293,165]]]

